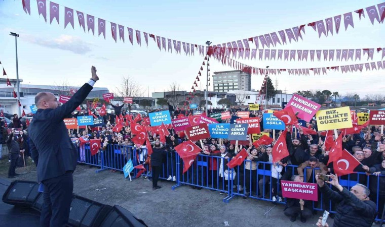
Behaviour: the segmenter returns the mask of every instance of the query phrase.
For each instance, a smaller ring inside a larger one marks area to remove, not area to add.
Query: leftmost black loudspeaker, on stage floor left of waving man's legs
[[[30,207],[41,194],[37,191],[39,184],[33,181],[14,181],[3,195],[3,202]]]

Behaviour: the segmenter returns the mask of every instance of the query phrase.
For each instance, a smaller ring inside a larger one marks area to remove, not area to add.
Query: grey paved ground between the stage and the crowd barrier
[[[0,178],[7,177],[7,164],[4,158],[0,161]],[[16,173],[22,175],[15,180],[36,181],[35,168],[31,162],[29,164],[26,169],[16,169]],[[224,221],[230,226],[315,226],[321,215],[318,212],[317,217],[306,223],[290,222],[283,215],[283,206],[278,205],[266,218],[266,207],[274,206],[270,202],[237,197],[226,204],[222,202],[225,195],[218,192],[194,190],[188,186],[173,191],[173,182],[160,182],[162,189],[152,190],[150,181],[135,179],[130,182],[123,174],[108,170],[95,173],[95,170],[87,165],[76,168],[74,193],[109,205],[121,205],[148,226],[224,226]]]

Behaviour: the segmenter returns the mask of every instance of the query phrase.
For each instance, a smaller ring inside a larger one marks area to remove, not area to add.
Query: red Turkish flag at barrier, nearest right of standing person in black
[[[188,140],[174,148],[179,156],[183,159],[183,174],[190,168],[197,155],[202,151],[195,143]]]

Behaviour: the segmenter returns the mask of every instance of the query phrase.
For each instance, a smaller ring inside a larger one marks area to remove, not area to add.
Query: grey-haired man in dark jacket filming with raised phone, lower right
[[[330,181],[322,180],[320,174],[316,175],[321,193],[339,203],[333,226],[371,226],[376,213],[376,204],[369,200],[369,189],[365,185],[357,184],[349,192],[338,183],[337,175],[330,174],[327,178]],[[325,183],[333,185],[337,191],[331,190]]]

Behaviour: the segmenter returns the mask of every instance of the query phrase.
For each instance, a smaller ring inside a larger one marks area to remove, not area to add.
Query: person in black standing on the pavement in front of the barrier
[[[158,186],[159,176],[162,171],[162,163],[167,154],[167,151],[161,148],[161,143],[156,141],[154,148],[152,148],[151,154],[151,169],[152,169],[152,189],[160,189],[161,186]]]

